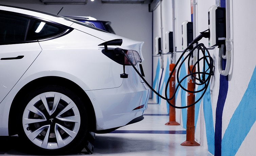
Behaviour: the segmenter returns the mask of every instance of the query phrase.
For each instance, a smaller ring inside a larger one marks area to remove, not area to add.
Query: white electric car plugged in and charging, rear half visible
[[[142,44],[55,14],[0,5],[0,135],[18,134],[28,150],[60,154],[80,150],[88,132],[142,120],[149,88],[115,51],[121,48],[142,72]]]

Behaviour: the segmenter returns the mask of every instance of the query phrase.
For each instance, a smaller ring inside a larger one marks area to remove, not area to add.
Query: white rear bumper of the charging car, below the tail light
[[[129,78],[123,79],[123,84],[118,88],[86,91],[92,99],[96,131],[119,128],[143,116],[149,99],[149,88],[140,81],[129,81]],[[142,108],[135,109],[142,105]]]

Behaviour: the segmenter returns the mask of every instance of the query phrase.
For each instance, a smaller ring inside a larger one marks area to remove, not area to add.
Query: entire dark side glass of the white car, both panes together
[[[0,11],[0,44],[16,44],[58,36],[67,27],[26,17],[9,11]]]

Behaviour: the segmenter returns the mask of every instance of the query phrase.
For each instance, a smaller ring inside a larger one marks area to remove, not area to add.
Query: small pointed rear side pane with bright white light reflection
[[[36,19],[31,19],[27,31],[26,40],[39,40],[49,37],[57,36],[67,29],[60,26],[47,23],[45,21],[40,21]]]

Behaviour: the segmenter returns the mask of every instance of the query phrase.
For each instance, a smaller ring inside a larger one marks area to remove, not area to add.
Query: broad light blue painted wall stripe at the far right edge
[[[234,156],[256,121],[256,68],[238,107],[230,119],[223,138],[221,154]],[[255,144],[252,142],[252,144]]]

